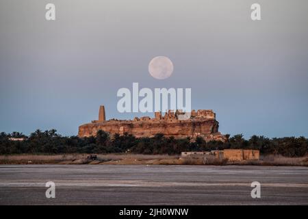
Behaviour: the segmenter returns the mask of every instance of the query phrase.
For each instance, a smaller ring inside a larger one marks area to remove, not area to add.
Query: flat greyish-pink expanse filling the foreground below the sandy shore
[[[45,183],[55,183],[46,198]],[[261,198],[251,198],[251,183]],[[308,168],[0,165],[0,205],[308,205]]]

